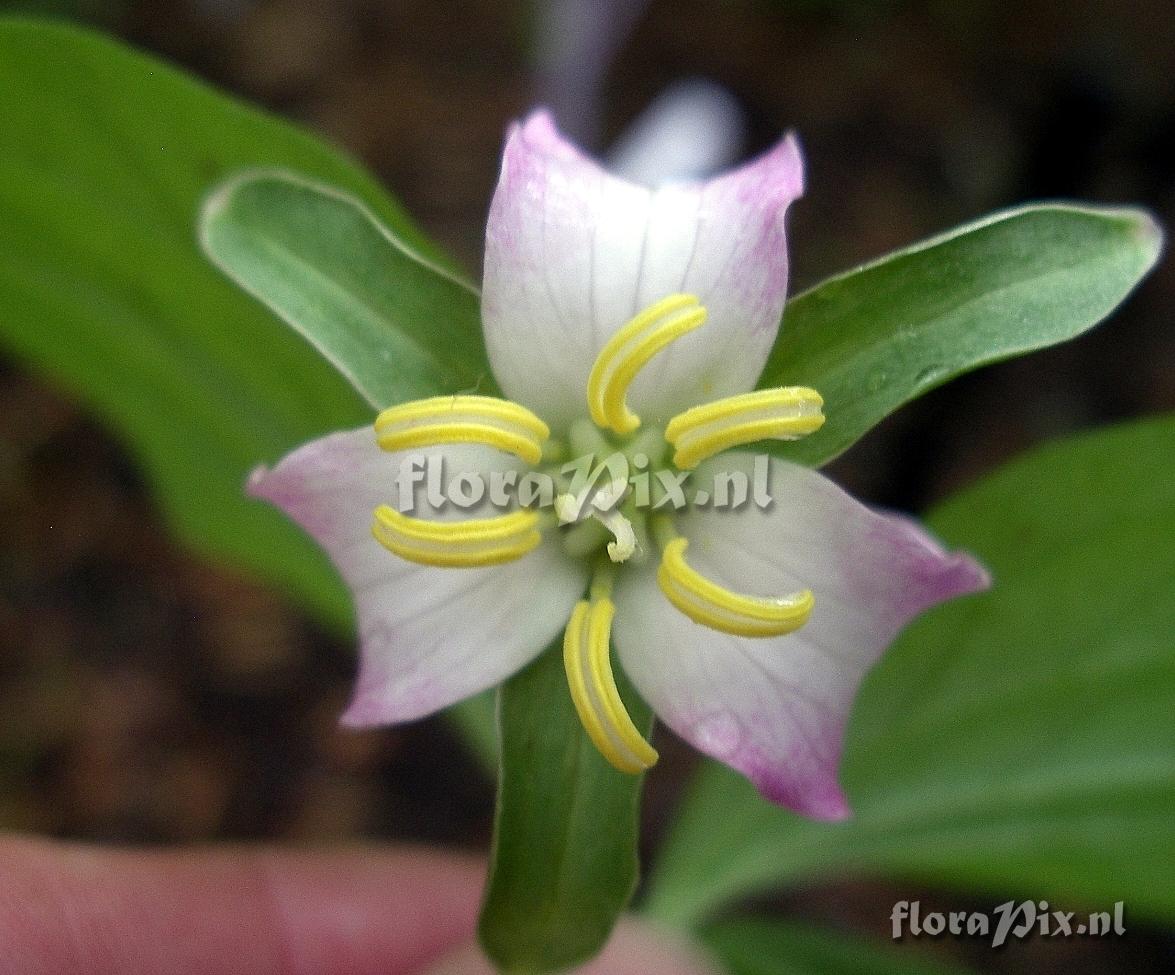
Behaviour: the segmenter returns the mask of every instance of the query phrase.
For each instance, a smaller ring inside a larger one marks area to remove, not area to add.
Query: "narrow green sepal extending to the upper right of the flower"
[[[1161,246],[1141,210],[1022,207],[797,295],[759,385],[817,389],[827,422],[773,450],[819,466],[947,379],[1080,335],[1154,267]]]

